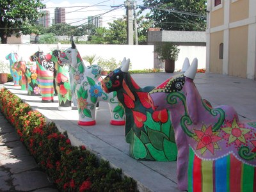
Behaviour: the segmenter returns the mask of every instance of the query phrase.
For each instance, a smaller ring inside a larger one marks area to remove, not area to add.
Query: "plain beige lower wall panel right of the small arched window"
[[[228,75],[246,78],[247,52],[248,26],[230,29]]]

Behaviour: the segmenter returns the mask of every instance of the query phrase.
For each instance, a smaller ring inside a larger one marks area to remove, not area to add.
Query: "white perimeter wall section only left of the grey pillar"
[[[8,62],[5,59],[12,51],[17,51],[19,57],[29,61],[29,56],[38,51],[38,46],[44,53],[56,49],[57,45],[30,44],[30,45],[1,45],[0,61]],[[71,45],[61,45],[61,50],[65,50]],[[79,45],[77,49],[81,56],[96,54],[103,59],[115,58],[116,62],[122,61],[124,57],[130,58],[132,70],[154,68],[154,45]],[[85,63],[86,64],[86,63]],[[95,63],[96,64],[96,63]]]

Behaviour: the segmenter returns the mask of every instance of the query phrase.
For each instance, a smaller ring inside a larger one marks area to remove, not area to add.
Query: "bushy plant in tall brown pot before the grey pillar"
[[[157,45],[155,51],[158,54],[159,60],[164,61],[164,70],[167,73],[173,73],[175,68],[175,61],[177,61],[180,49],[172,42],[164,42]]]

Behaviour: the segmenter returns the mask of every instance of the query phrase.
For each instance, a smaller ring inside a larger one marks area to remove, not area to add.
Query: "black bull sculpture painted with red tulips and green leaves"
[[[134,159],[151,161],[175,161],[175,145],[170,111],[153,111],[148,92],[154,87],[141,88],[128,72],[129,59],[113,70],[102,81],[105,92],[117,92],[118,100],[125,108],[125,140],[130,144]]]

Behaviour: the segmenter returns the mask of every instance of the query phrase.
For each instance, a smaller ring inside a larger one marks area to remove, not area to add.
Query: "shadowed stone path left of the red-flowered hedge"
[[[0,191],[58,191],[1,112]]]

